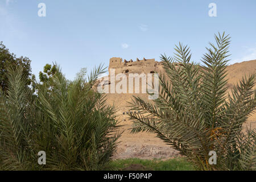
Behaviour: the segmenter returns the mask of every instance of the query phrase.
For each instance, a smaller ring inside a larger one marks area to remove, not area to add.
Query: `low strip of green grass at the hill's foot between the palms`
[[[141,168],[150,171],[193,171],[195,168],[184,158],[159,160],[159,159],[117,159],[109,163],[109,168],[114,170],[132,169],[132,164],[141,164]],[[134,169],[136,170],[136,169]]]

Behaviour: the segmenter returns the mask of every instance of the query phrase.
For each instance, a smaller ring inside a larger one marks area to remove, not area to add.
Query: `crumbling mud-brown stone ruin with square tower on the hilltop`
[[[136,61],[122,60],[121,57],[112,57],[109,60],[109,73],[110,69],[115,69],[115,74],[118,73],[155,73],[160,71],[160,65],[155,59],[145,59],[142,60],[137,58]]]

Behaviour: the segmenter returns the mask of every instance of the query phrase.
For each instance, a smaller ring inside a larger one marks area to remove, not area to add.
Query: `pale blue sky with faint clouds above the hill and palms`
[[[46,16],[38,16],[38,4]],[[210,3],[217,17],[210,17]],[[217,0],[0,0],[0,41],[17,56],[32,60],[38,76],[56,61],[68,79],[80,68],[126,60],[173,55],[179,42],[188,44],[200,61],[214,33],[232,36],[231,63],[256,59],[256,1]]]

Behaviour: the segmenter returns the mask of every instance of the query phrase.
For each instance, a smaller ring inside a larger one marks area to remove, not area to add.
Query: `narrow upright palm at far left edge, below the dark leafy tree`
[[[9,69],[6,93],[0,94],[0,170],[32,169],[36,164],[31,138],[35,133],[34,101],[31,90],[24,86],[26,77],[18,68]]]

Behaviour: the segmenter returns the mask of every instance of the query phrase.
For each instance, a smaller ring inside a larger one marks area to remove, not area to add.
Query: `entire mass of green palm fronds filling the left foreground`
[[[84,85],[68,86],[56,67],[55,86],[36,85],[36,97],[23,86],[22,68],[10,69],[7,93],[0,96],[0,169],[2,170],[97,170],[115,151],[115,109],[105,96],[91,87],[104,72],[94,69]],[[46,165],[38,164],[39,151],[46,152]]]

